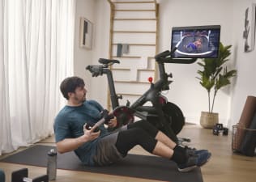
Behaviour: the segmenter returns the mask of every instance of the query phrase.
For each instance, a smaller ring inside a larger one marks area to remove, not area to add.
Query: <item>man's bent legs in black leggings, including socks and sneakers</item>
[[[177,163],[179,171],[190,171],[194,169],[194,167],[202,166],[211,156],[210,153],[190,155],[177,150],[176,147],[171,149],[163,142],[152,138],[147,131],[140,128],[126,129],[118,133],[116,147],[123,156],[136,145],[142,146],[144,150],[147,150],[151,154],[173,160]]]

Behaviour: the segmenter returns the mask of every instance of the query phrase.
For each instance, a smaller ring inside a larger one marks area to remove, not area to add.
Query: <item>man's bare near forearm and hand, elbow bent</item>
[[[65,138],[64,140],[57,142],[57,150],[60,154],[73,151],[79,146],[82,146],[83,143],[92,141],[100,136],[100,131],[94,132],[96,126],[93,126],[92,129],[87,130],[83,128],[84,134],[79,138]]]

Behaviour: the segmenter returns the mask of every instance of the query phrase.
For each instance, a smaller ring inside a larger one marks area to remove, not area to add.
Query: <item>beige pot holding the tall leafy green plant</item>
[[[213,129],[219,123],[219,113],[201,112],[200,125],[205,129]]]

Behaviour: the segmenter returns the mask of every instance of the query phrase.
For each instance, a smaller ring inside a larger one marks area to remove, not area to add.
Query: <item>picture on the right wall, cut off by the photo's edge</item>
[[[244,51],[245,53],[254,50],[255,46],[255,21],[256,21],[256,3],[252,3],[251,6],[245,10],[245,27],[243,32],[243,38],[245,40]]]

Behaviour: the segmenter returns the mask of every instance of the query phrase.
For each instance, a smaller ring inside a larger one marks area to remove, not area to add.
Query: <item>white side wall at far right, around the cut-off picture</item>
[[[256,49],[250,53],[244,53],[244,39],[242,37],[245,28],[245,9],[251,6],[252,2],[256,3],[255,0],[236,0],[234,2],[233,45],[237,49],[236,65],[238,77],[233,87],[229,125],[235,125],[239,121],[247,96],[256,96]]]

